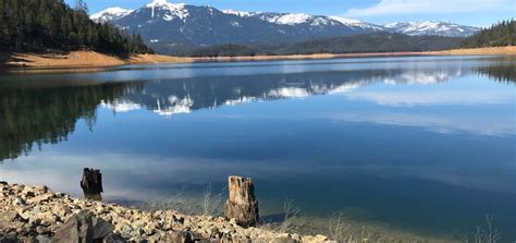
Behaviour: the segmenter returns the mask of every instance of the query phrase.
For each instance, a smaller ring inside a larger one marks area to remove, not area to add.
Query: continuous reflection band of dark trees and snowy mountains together
[[[0,88],[0,161],[28,154],[34,145],[66,141],[78,120],[90,126],[97,108],[114,112],[147,109],[159,116],[189,113],[219,106],[348,93],[382,84],[434,84],[470,74],[475,69],[392,69],[244,76],[191,77],[148,82],[108,82],[69,86],[45,82]],[[514,82],[513,66],[475,70],[494,80]],[[417,97],[416,97],[417,98]]]

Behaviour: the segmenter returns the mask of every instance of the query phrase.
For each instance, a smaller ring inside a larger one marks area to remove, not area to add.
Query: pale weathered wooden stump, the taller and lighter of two
[[[255,227],[258,223],[259,214],[253,179],[230,177],[228,182],[230,196],[225,203],[225,216],[235,219],[242,227]]]

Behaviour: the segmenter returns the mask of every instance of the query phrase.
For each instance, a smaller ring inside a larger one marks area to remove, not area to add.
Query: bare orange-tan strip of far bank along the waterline
[[[130,58],[119,58],[95,51],[72,51],[69,53],[0,53],[0,66],[10,71],[23,70],[71,70],[101,69],[126,64],[158,64],[158,63],[192,63],[192,62],[224,62],[224,61],[274,61],[274,60],[317,60],[339,58],[371,58],[371,57],[410,57],[410,56],[515,56],[516,46],[489,47],[475,49],[453,49],[425,52],[376,52],[376,53],[317,53],[293,56],[255,56],[255,57],[217,57],[188,58],[162,54],[137,54]]]

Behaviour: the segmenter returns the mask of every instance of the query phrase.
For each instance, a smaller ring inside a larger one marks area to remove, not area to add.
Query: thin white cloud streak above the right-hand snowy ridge
[[[380,0],[364,9],[351,9],[346,15],[370,16],[417,13],[470,13],[514,9],[512,0]]]

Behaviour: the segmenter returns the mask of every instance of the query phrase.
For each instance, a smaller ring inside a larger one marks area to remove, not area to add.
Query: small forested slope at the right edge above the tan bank
[[[516,21],[503,21],[466,38],[464,48],[516,46]]]

